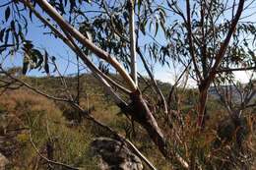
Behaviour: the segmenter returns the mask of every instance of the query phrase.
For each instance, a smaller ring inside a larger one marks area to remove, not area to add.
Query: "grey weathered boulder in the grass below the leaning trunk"
[[[97,138],[92,143],[100,170],[142,170],[141,160],[123,143],[108,138]],[[100,162],[100,163],[99,163]]]

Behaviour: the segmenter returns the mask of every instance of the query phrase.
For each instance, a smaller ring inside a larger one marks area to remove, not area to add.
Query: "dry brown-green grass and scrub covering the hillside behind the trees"
[[[45,92],[62,95],[58,90],[58,77],[20,78],[32,85],[39,85]],[[70,90],[75,93],[76,79],[65,79],[74,88]],[[1,80],[8,79],[2,77]],[[139,82],[142,88],[147,86],[142,80]],[[80,83],[83,91],[80,103],[90,114],[136,144],[159,169],[182,169],[179,162],[162,157],[147,132],[120,113],[120,109],[109,96],[102,94],[102,87],[97,85],[92,75],[81,76]],[[160,83],[160,88],[167,93],[166,90],[171,85]],[[169,149],[174,149],[186,160],[195,158],[202,169],[255,168],[255,112],[252,109],[246,110],[248,114],[243,118],[243,135],[246,140],[242,146],[243,154],[240,155],[239,146],[235,142],[237,129],[234,129],[231,121],[224,121],[227,113],[218,97],[210,98],[207,125],[199,136],[195,128],[196,112],[192,109],[198,102],[196,89],[175,90],[177,112],[172,113],[172,124],[161,118],[160,108],[157,107],[159,100],[153,97],[151,91],[151,88],[146,89],[145,95],[154,116],[160,122],[160,128],[164,130],[164,136],[170,140]],[[51,160],[72,167],[96,169],[96,159],[92,156],[90,142],[96,137],[114,138],[109,132],[83,118],[83,113],[72,108],[70,104],[50,100],[25,87],[5,91],[2,89],[0,115],[0,151],[10,160],[7,169],[60,168],[46,163],[36,153],[32,142],[43,156]],[[171,141],[173,137],[177,138],[176,142]],[[145,168],[147,169],[146,165]]]

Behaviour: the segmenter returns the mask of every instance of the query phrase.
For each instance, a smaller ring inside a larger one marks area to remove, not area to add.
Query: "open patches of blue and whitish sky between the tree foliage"
[[[7,2],[7,0],[1,0],[1,2]],[[2,4],[2,3],[0,3]],[[4,11],[0,11],[0,20],[3,20],[4,18]],[[251,15],[255,12],[255,8],[248,9],[246,13],[243,13],[243,16],[248,16]],[[228,14],[227,14],[228,15]],[[172,19],[174,20],[174,19]],[[256,16],[251,16],[246,19],[247,21],[254,22],[256,21]],[[69,48],[60,40],[56,39],[52,35],[50,36],[49,34],[45,35],[43,34],[43,31],[47,31],[47,29],[39,28],[41,26],[41,23],[33,17],[33,23],[29,27],[29,33],[27,38],[31,39],[35,44],[36,47],[41,48],[41,49],[46,49],[49,53],[49,55],[53,55],[56,57],[56,62],[58,64],[59,70],[62,74],[66,73],[67,74],[73,74],[76,73],[76,66],[68,62],[67,60],[72,60],[76,63],[76,56],[72,51],[69,50]],[[1,26],[0,26],[1,28]],[[157,36],[158,40],[161,41],[161,36],[163,36],[163,33],[160,32]],[[147,41],[148,38],[145,36],[142,36],[140,38],[140,42],[145,42]],[[166,43],[165,41],[162,41],[162,44]],[[1,44],[0,44],[1,45]],[[14,55],[14,60],[13,63],[11,62],[11,59],[7,59],[5,61],[5,67],[12,67],[12,66],[22,66],[23,62],[23,56],[20,54]],[[151,63],[151,62],[150,62]],[[154,64],[154,62],[152,62]],[[174,64],[175,65],[175,64]],[[177,66],[177,65],[175,65]],[[173,67],[167,68],[167,67],[161,67],[160,64],[155,64],[154,65],[154,74],[157,79],[163,82],[169,82],[173,83],[173,80],[175,79],[175,75],[179,75],[180,73],[180,67],[177,67],[176,70],[173,70]],[[146,70],[142,67],[142,63],[138,57],[138,71],[142,75],[147,75]],[[246,82],[248,79],[248,74],[249,72],[237,72],[236,73],[236,78],[243,83]],[[28,76],[43,76],[45,74],[42,74],[41,71],[38,72],[37,70],[31,71],[28,73]],[[194,86],[195,82],[189,80],[189,85]]]

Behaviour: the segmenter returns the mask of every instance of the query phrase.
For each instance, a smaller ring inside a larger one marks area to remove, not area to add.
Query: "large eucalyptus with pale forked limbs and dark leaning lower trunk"
[[[141,11],[140,8],[142,4],[143,2],[140,2],[138,5],[139,11]],[[86,11],[88,8],[94,7],[95,5],[97,6],[96,9],[99,10],[98,14],[88,16]],[[147,4],[143,5],[145,11],[143,15],[147,16]],[[90,2],[72,0],[47,2],[45,0],[24,0],[7,1],[6,4],[1,6],[6,8],[5,21],[3,21],[3,23],[6,24],[6,28],[1,29],[1,41],[4,41],[4,45],[1,45],[1,52],[5,53],[6,50],[10,49],[7,55],[10,54],[11,57],[13,57],[14,53],[22,51],[24,55],[24,74],[26,74],[29,69],[42,68],[46,73],[49,73],[49,60],[55,63],[55,58],[50,58],[47,51],[44,51],[43,55],[42,52],[34,46],[31,40],[26,39],[26,33],[30,31],[28,23],[29,20],[32,21],[32,15],[34,15],[41,21],[45,28],[50,28],[52,34],[62,39],[63,42],[80,57],[96,76],[98,81],[105,87],[106,92],[113,97],[122,112],[130,115],[133,120],[139,122],[149,132],[153,141],[160,147],[160,151],[163,155],[168,157],[164,137],[157,121],[143,99],[141,90],[137,84],[136,44],[138,44],[139,30],[134,29],[135,4],[133,1],[114,2],[112,4],[111,1]],[[40,9],[44,11],[49,18],[45,18],[43,16],[44,14],[41,14]],[[156,9],[154,13],[158,11],[160,11],[160,9]],[[27,16],[30,16],[30,19],[28,19]],[[126,31],[128,31],[128,33]],[[135,33],[137,36],[135,36]],[[11,34],[11,36],[9,36],[9,34]],[[118,85],[108,78],[96,67],[96,64],[90,60],[88,55],[98,57],[101,61],[109,64],[119,73],[129,89]],[[129,68],[131,68],[131,76],[129,75]],[[4,72],[2,67],[1,69],[2,72]],[[150,72],[150,70],[148,71]],[[8,76],[11,77],[11,75]],[[25,85],[32,87],[27,84]],[[128,105],[120,95],[113,90],[111,85],[117,86],[122,92],[130,96],[132,102]],[[155,86],[160,92],[158,85]],[[36,89],[34,90],[39,92]],[[47,96],[47,94],[43,95]],[[163,98],[161,93],[160,95]],[[63,99],[63,101],[72,102],[72,98]],[[72,103],[76,105],[76,103]]]

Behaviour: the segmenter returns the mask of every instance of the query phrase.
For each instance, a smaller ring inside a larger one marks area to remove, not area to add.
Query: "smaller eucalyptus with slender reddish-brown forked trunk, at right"
[[[252,3],[186,1],[185,8],[181,8],[178,1],[167,3],[166,10],[179,16],[166,30],[174,57],[183,63],[193,63],[191,77],[200,92],[199,127],[206,113],[209,86],[234,78],[234,71],[255,71],[255,26],[246,20],[252,14],[241,17],[242,11]]]

